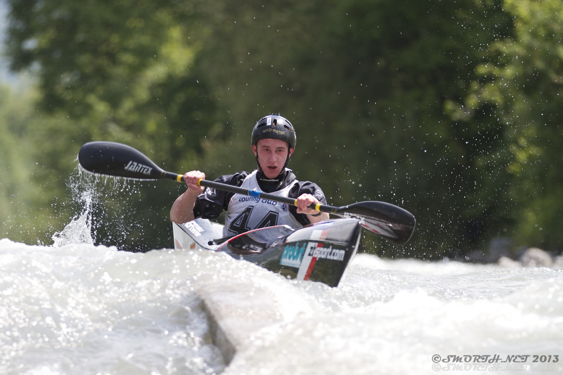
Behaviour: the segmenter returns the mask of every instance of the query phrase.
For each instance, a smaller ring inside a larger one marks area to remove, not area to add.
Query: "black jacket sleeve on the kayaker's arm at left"
[[[231,186],[241,186],[247,175],[248,172],[242,171],[240,173],[223,175],[214,181]],[[194,217],[211,220],[217,219],[223,210],[227,210],[233,195],[234,193],[206,187],[195,201]]]

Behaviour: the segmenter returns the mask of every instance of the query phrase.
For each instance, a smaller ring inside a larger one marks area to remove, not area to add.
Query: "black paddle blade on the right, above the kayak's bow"
[[[413,214],[386,202],[358,202],[340,207],[337,215],[361,220],[361,226],[386,240],[403,245],[413,235]]]

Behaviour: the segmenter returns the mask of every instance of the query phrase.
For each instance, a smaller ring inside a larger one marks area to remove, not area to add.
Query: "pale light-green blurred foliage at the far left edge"
[[[27,243],[50,240],[57,220],[43,157],[30,152],[41,147],[28,126],[35,96],[0,85],[0,237]]]

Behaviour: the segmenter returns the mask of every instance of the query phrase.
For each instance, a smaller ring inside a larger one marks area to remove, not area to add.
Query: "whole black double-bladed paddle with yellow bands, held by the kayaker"
[[[146,180],[171,179],[184,182],[183,175],[164,171],[142,152],[121,143],[86,143],[78,152],[78,161],[82,168],[98,174]],[[296,205],[296,200],[293,198],[279,197],[257,190],[208,180],[200,180],[198,184],[221,191]],[[342,207],[316,204],[309,206],[309,208],[343,218],[359,219],[362,227],[397,245],[403,245],[409,241],[414,232],[414,216],[409,211],[386,202],[358,202]]]

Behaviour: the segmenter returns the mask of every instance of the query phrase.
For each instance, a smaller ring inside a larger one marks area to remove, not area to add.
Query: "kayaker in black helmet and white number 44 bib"
[[[187,190],[170,210],[170,219],[186,223],[195,218],[217,219],[226,210],[224,236],[252,229],[287,224],[299,228],[309,223],[329,219],[328,213],[307,208],[311,204],[327,204],[321,188],[309,181],[298,181],[287,168],[295,150],[297,137],[293,125],[280,115],[260,119],[252,130],[251,146],[258,168],[252,173],[242,171],[223,175],[216,182],[297,199],[297,207],[262,198],[205,189],[198,186],[205,174],[192,170],[184,174]]]

